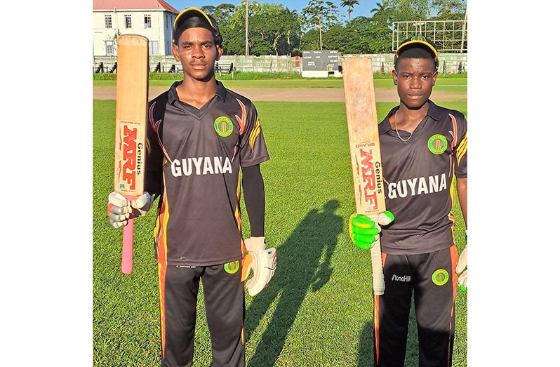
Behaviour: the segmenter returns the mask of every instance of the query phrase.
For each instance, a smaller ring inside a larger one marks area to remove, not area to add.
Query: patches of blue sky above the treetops
[[[182,11],[184,8],[188,8],[189,6],[194,6],[196,8],[200,8],[201,6],[211,5],[216,6],[218,4],[241,4],[240,0],[164,0],[171,6],[173,6],[178,11]],[[333,1],[333,0],[331,0]],[[309,0],[269,0],[269,1],[258,1],[259,3],[276,3],[276,4],[284,4],[286,8],[293,10],[296,9],[298,12],[305,8],[309,3]],[[335,5],[338,6],[340,11],[340,16],[342,20],[348,19],[347,8],[342,8],[340,6],[340,0],[333,1]],[[352,18],[356,18],[358,16],[369,17],[371,16],[371,9],[375,8],[375,4],[377,4],[376,0],[361,0],[359,5],[354,6],[354,11],[352,11]]]

